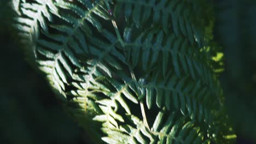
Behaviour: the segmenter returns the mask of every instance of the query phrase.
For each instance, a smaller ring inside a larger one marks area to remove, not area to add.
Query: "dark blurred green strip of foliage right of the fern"
[[[216,35],[223,46],[222,85],[238,135],[256,142],[256,1],[214,1]],[[239,139],[239,136],[238,136]]]

